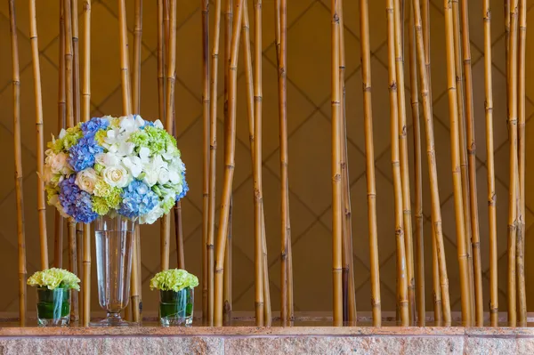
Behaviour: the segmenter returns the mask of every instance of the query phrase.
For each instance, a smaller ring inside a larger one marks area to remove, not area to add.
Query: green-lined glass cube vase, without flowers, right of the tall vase
[[[162,327],[191,327],[194,291],[187,287],[178,292],[159,291],[159,320]]]

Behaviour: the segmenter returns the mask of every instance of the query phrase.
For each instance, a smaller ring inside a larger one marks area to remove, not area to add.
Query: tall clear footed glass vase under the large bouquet
[[[99,217],[94,222],[98,298],[108,315],[93,326],[134,325],[123,320],[120,312],[130,298],[135,223],[120,215]]]

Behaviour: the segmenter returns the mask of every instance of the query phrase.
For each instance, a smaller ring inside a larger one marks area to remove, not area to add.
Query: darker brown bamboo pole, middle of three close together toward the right
[[[454,66],[456,73],[457,85],[457,115],[458,115],[458,132],[459,132],[459,150],[460,150],[460,175],[462,181],[462,204],[464,211],[465,224],[465,253],[467,254],[468,278],[469,278],[469,310],[471,319],[474,321],[474,283],[473,283],[473,258],[471,245],[471,202],[470,187],[467,166],[467,142],[465,132],[465,100],[464,100],[464,73],[462,68],[462,48],[460,38],[460,13],[458,1],[452,2],[452,22],[453,22],[453,39],[454,39]]]

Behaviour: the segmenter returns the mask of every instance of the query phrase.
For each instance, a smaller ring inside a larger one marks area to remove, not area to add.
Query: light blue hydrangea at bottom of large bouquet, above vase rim
[[[125,187],[122,198],[118,213],[128,218],[148,214],[159,203],[158,195],[139,180],[134,180]]]

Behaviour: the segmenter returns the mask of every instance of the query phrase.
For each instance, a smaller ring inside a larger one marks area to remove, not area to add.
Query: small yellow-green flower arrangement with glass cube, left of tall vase
[[[28,278],[29,286],[37,286],[37,325],[66,327],[70,321],[70,290],[80,290],[80,279],[67,270],[37,271]]]

